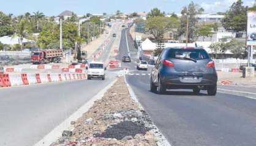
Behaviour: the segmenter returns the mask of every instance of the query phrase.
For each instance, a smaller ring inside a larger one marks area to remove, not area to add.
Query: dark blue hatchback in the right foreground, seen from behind
[[[150,89],[164,94],[167,89],[193,89],[198,94],[217,92],[217,72],[214,61],[204,49],[163,50],[151,71]]]

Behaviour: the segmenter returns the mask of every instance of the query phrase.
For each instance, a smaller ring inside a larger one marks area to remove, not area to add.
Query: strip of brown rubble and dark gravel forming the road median
[[[74,130],[52,145],[157,145],[156,127],[130,97],[123,77],[72,124]]]

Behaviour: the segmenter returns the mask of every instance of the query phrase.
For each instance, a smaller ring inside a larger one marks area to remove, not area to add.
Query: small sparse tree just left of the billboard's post
[[[236,59],[244,58],[246,52],[246,44],[244,41],[232,39],[230,42],[225,44],[227,50],[230,50]]]

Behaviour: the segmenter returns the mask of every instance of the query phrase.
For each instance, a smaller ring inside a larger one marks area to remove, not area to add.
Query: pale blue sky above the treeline
[[[194,0],[206,13],[225,12],[236,0]],[[180,13],[191,0],[0,0],[0,11],[21,15],[26,12],[43,12],[47,16],[56,16],[64,10],[77,15],[86,13],[124,13],[149,12],[154,7],[167,13]],[[243,0],[244,5],[254,5],[254,0]]]

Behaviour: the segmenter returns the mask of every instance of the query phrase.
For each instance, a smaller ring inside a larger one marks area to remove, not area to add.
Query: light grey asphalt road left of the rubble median
[[[113,40],[112,40],[113,41]],[[106,61],[111,45],[99,58]],[[115,80],[80,80],[0,88],[0,145],[31,146]]]

